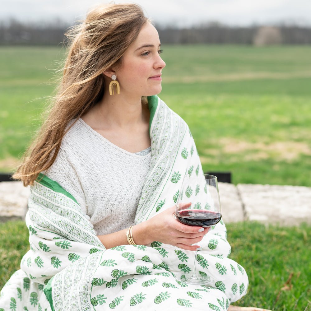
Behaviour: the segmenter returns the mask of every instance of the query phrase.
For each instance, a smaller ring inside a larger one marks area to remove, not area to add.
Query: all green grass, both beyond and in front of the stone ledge
[[[160,97],[189,124],[205,171],[229,170],[234,183],[311,185],[311,46],[163,49]],[[16,167],[38,129],[63,58],[60,47],[0,47],[0,171]],[[250,281],[235,304],[311,310],[310,226],[227,228],[230,257]],[[23,222],[0,224],[0,288],[28,247]]]

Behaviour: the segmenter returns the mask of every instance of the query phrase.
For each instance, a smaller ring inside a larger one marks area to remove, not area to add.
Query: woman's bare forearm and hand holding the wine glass
[[[132,237],[134,242],[138,245],[147,245],[153,241],[158,241],[186,250],[199,248],[199,245],[191,244],[200,242],[209,228],[184,225],[174,218],[174,212],[175,206],[133,226]],[[105,248],[125,245],[128,244],[126,231],[127,229],[123,229],[114,233],[98,235],[98,238]]]

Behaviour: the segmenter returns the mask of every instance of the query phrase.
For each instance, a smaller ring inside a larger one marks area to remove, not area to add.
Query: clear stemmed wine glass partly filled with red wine
[[[216,225],[221,219],[217,177],[208,174],[192,175],[187,174],[183,179],[177,199],[175,217],[179,222],[189,226],[207,228]],[[181,203],[188,204],[185,206]],[[194,252],[193,275],[183,275],[180,279],[188,284],[211,284],[213,280],[206,273],[197,275],[196,259],[197,250]]]

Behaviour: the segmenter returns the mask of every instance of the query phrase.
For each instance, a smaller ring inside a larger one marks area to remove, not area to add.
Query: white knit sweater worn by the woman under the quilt
[[[75,197],[97,234],[108,234],[134,224],[150,161],[150,152],[125,151],[78,119],[45,173]]]

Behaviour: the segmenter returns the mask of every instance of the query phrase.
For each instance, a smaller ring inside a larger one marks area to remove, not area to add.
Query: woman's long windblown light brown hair
[[[66,33],[71,44],[58,94],[14,179],[31,185],[41,171],[53,164],[69,121],[80,118],[103,97],[102,72],[122,65],[124,52],[146,21],[142,8],[136,4],[102,5]]]

